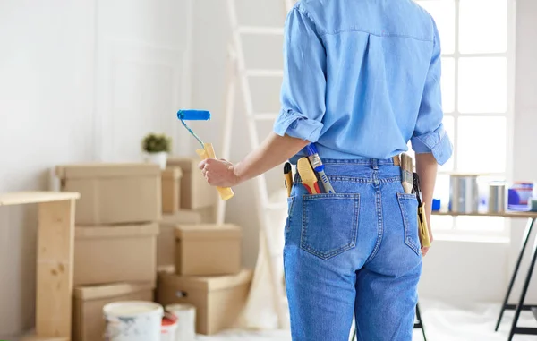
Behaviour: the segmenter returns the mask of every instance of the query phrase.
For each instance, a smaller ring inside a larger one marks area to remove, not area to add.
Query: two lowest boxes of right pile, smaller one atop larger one
[[[175,273],[158,274],[157,302],[194,305],[200,334],[234,327],[252,276],[241,268],[241,239],[230,224],[175,226]]]

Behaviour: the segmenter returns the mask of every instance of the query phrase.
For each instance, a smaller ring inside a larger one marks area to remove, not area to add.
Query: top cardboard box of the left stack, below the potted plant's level
[[[56,166],[60,189],[80,192],[77,225],[158,221],[162,215],[161,170],[153,164]]]

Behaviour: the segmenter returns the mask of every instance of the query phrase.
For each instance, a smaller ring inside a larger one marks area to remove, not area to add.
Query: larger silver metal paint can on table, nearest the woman
[[[449,210],[455,213],[476,213],[479,208],[478,175],[451,175],[449,179]]]

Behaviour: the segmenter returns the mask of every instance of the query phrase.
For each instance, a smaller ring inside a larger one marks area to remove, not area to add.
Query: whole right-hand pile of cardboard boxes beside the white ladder
[[[194,305],[196,332],[211,335],[234,326],[250,291],[252,271],[241,268],[241,227],[215,224],[217,192],[200,174],[199,162],[168,159],[168,166],[180,167],[183,173],[182,210],[164,217],[160,225],[161,234],[166,231],[162,243],[174,249],[163,252],[162,259],[174,266],[158,273],[157,302]],[[184,209],[190,210],[191,221],[182,216]]]

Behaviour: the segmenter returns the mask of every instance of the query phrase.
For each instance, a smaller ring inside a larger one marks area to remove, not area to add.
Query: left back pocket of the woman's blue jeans
[[[360,194],[303,196],[301,248],[323,260],[356,245]]]

